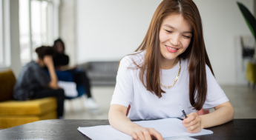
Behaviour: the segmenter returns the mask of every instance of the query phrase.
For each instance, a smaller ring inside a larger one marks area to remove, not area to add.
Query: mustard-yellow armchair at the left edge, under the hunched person
[[[11,70],[0,73],[0,128],[57,118],[54,97],[28,101],[13,100],[15,81]]]

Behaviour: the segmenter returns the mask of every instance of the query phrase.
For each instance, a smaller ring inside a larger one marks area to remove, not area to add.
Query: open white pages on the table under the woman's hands
[[[169,118],[153,121],[134,121],[142,127],[151,127],[157,130],[164,139],[174,136],[200,136],[213,133],[211,130],[202,129],[200,133],[188,133],[180,119]],[[78,130],[91,139],[122,139],[131,140],[131,136],[114,129],[111,125],[100,125],[96,127],[79,127]]]

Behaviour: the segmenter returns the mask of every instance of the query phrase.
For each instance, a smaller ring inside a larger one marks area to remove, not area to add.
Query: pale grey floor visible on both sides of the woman
[[[234,107],[234,119],[256,119],[256,90],[252,87],[221,86]],[[114,87],[92,87],[93,98],[102,113],[94,115],[85,109],[82,99],[65,101],[65,119],[108,119]],[[85,99],[85,97],[82,97]],[[73,107],[71,106],[73,105]],[[72,110],[73,109],[73,110]],[[214,110],[210,110],[212,112]]]

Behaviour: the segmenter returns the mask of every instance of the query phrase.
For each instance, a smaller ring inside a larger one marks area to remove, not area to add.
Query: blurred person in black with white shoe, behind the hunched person
[[[53,49],[56,50],[56,55],[53,57],[53,63],[56,70],[68,70],[69,57],[65,54],[65,44],[62,39],[54,41]],[[85,92],[87,94],[85,107],[89,109],[97,109],[99,106],[91,96],[90,79],[86,76],[85,70],[77,70],[76,67],[73,67],[68,71],[73,75],[73,81],[76,85],[82,84],[85,87]]]

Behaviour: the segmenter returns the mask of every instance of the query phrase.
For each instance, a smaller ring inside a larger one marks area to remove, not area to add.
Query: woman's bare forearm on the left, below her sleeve
[[[140,127],[139,124],[135,124],[124,113],[119,110],[111,109],[108,114],[108,120],[112,127],[116,130],[127,133],[131,136],[131,130],[134,127]]]

